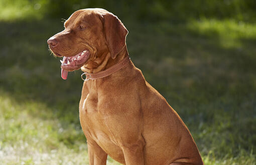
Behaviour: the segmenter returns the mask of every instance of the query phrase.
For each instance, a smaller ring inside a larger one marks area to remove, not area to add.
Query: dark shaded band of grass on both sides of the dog
[[[226,46],[223,41],[234,40],[187,24],[123,23],[135,65],[177,110],[200,151],[219,157],[236,155],[239,148],[250,152],[256,143],[256,38],[241,36]],[[62,30],[61,20],[0,23],[0,93],[20,104],[43,102],[49,108],[31,110],[32,116],[59,118],[80,128],[81,71],[62,80],[59,59],[46,43]]]

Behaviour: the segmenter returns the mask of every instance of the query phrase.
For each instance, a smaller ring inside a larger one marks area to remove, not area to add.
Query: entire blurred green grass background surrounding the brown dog
[[[88,164],[81,71],[62,80],[46,43],[83,8],[123,22],[132,61],[184,120],[205,164],[256,164],[255,0],[1,0],[1,164]]]

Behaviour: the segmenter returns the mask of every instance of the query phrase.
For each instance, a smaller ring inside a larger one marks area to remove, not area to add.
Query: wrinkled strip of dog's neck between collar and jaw
[[[121,50],[121,52],[116,56],[115,59],[111,58],[109,52],[102,53],[101,56],[95,58],[95,60],[88,62],[82,66],[81,70],[86,73],[98,73],[100,71],[106,70],[119,61],[123,60],[129,55],[126,46]]]

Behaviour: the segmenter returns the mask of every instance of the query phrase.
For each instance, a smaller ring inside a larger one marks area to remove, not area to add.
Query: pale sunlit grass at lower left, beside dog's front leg
[[[79,144],[74,141],[74,148],[65,145],[68,136],[76,136],[80,130],[74,129],[72,124],[63,128],[58,118],[31,115],[31,111],[43,114],[51,110],[45,104],[37,101],[17,103],[3,91],[0,102],[1,164],[88,163],[85,140]],[[49,111],[48,113],[45,116],[53,115]],[[68,136],[65,137],[67,133]]]

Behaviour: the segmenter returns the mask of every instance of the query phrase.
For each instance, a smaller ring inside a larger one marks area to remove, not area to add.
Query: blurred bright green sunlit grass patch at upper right
[[[241,48],[244,40],[256,38],[256,24],[235,20],[194,20],[189,21],[187,27],[202,36],[218,38],[224,48]]]

